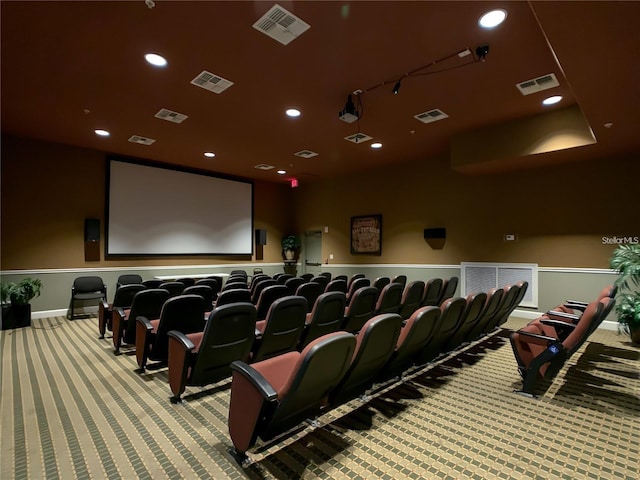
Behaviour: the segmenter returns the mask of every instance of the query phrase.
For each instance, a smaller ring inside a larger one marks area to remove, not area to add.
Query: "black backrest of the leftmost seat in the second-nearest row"
[[[231,362],[247,362],[256,329],[256,307],[234,303],[214,309],[209,315],[192,364],[189,383],[206,385],[231,375]]]

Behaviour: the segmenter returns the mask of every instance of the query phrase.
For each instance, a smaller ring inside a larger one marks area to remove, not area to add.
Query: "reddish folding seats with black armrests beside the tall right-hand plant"
[[[606,287],[596,300],[568,301],[514,332],[511,347],[522,377],[517,393],[535,397],[540,379],[553,379],[567,359],[573,355],[604,321],[615,305],[617,289]],[[582,311],[582,315],[567,310]]]

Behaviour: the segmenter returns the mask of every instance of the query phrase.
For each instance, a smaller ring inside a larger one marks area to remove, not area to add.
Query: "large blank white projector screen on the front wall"
[[[107,160],[106,255],[252,255],[253,183]]]

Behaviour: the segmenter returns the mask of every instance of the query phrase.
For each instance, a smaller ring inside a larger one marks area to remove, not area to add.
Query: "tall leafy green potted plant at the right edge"
[[[616,314],[620,329],[629,333],[633,343],[640,343],[640,245],[620,245],[609,265],[618,273]]]

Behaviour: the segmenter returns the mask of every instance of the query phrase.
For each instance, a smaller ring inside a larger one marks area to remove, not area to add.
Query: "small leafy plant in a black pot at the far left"
[[[21,328],[31,325],[31,300],[40,296],[42,282],[37,278],[23,278],[19,282],[3,283],[2,329]]]

